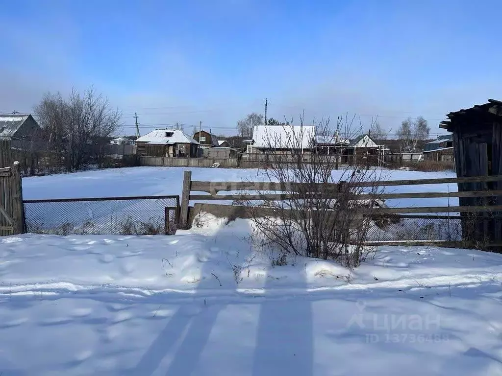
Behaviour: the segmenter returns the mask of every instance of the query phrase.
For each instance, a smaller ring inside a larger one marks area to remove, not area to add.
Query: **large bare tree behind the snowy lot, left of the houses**
[[[118,109],[112,109],[108,99],[92,86],[82,94],[72,90],[67,99],[59,92],[48,93],[35,107],[35,113],[49,135],[50,151],[66,171],[100,163],[104,145],[116,133],[121,117]]]

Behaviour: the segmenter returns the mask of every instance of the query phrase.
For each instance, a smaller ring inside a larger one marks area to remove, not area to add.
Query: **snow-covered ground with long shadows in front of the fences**
[[[0,240],[0,374],[499,375],[502,255],[382,248],[272,268],[214,219]]]

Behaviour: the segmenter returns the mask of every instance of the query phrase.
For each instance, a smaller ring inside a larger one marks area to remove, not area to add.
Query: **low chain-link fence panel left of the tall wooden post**
[[[179,196],[26,200],[26,232],[157,235],[178,227]]]

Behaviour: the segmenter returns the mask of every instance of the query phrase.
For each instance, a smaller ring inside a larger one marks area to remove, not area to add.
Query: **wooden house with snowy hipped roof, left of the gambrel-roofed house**
[[[136,140],[139,155],[196,157],[199,143],[179,129],[156,129]]]

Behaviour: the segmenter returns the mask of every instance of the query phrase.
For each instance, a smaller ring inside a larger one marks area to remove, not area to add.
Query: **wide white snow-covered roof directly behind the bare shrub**
[[[313,125],[258,125],[253,128],[255,147],[300,149],[312,147]]]

